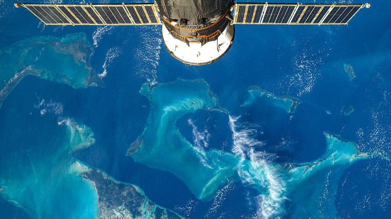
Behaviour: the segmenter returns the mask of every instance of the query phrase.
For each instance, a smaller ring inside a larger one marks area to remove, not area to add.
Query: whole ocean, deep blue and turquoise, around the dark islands
[[[0,107],[2,217],[96,216],[86,166],[185,218],[391,213],[389,3],[370,2],[347,26],[236,25],[230,51],[205,66],[173,58],[161,26],[44,26],[0,3],[0,48],[83,32],[104,82],[26,75],[9,92]],[[252,98],[251,86],[270,99]],[[301,103],[287,112],[282,96]],[[128,154],[137,139],[141,149]]]

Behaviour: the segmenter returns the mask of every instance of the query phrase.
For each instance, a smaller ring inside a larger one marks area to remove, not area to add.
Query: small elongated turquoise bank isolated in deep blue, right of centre
[[[279,96],[273,94],[269,91],[263,90],[258,86],[250,86],[248,89],[250,93],[250,98],[242,104],[242,106],[247,106],[257,103],[263,103],[266,105],[273,105],[278,108],[284,109],[288,113],[293,113],[296,110],[296,107],[302,102],[300,99],[283,95]]]

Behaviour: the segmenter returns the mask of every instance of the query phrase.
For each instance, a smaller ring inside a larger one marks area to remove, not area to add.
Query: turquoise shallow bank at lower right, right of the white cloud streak
[[[288,197],[294,203],[294,218],[337,218],[334,205],[338,181],[342,173],[354,162],[379,156],[377,151],[361,151],[359,145],[325,131],[326,151],[314,161],[287,164],[289,180]]]

